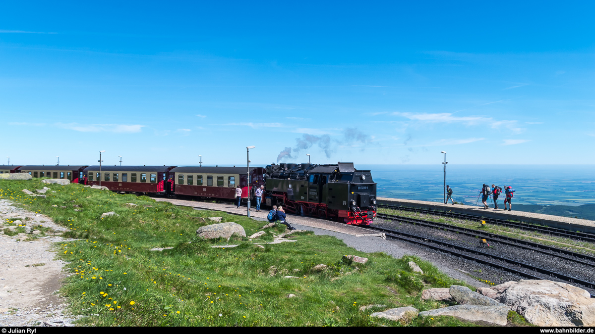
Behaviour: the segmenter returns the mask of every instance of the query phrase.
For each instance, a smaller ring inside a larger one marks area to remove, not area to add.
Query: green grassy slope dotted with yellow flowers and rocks
[[[73,314],[87,316],[78,320],[85,326],[473,325],[452,317],[391,322],[369,316],[377,310],[359,311],[369,304],[430,310],[443,304],[421,301],[421,289],[465,285],[416,257],[366,254],[311,232],[264,249],[255,245],[273,240],[284,225],[268,228],[256,241],[202,240],[196,229],[212,223],[205,219],[209,216],[239,223],[247,235],[264,223],[78,184],[50,185],[56,193],[45,199],[21,191],[42,185],[35,179],[0,181],[0,197],[68,228],[64,237],[74,240],[56,248],[74,275],[65,279],[60,294],[69,298]],[[109,211],[119,216],[101,218]],[[239,246],[211,247],[226,244]],[[151,251],[155,247],[173,248]],[[369,261],[364,266],[343,261],[345,254]],[[412,273],[408,261],[415,261],[424,275]],[[328,267],[316,272],[312,268],[317,264]],[[287,298],[289,294],[296,297]]]

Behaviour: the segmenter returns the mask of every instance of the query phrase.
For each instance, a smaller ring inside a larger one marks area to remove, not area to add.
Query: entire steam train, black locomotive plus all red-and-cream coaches
[[[4,170],[5,169],[5,170]],[[281,163],[267,168],[219,166],[6,166],[0,172],[24,172],[32,177],[70,179],[102,185],[112,191],[176,197],[242,199],[254,197],[265,185],[267,206],[282,205],[290,213],[369,224],[376,216],[376,184],[370,171],[353,163],[336,165]]]

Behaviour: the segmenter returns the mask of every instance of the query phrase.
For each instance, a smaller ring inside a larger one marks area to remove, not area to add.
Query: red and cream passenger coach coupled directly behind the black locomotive
[[[170,171],[171,194],[215,197],[233,200],[236,187],[242,187],[242,198],[253,195],[256,187],[264,184],[266,169],[250,168],[250,184],[246,167],[176,167]]]

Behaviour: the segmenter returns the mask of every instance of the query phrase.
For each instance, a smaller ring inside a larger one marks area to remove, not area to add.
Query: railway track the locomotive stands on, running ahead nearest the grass
[[[529,279],[543,279],[543,278],[535,276],[535,275],[531,275],[530,273],[521,272],[520,270],[516,270],[516,269],[513,269],[508,266],[503,266],[502,264],[493,263],[491,261],[487,261],[487,260],[483,260],[483,259],[477,259],[476,257],[472,257],[467,254],[459,253],[458,251],[455,251],[455,250],[465,251],[465,252],[468,252],[471,254],[477,254],[479,256],[487,257],[488,259],[496,259],[496,260],[502,261],[504,263],[510,263],[510,264],[513,264],[513,265],[516,265],[519,267],[523,267],[525,269],[533,270],[534,272],[542,273],[544,275],[550,275],[550,276],[553,276],[558,279],[563,279],[566,282],[578,283],[580,285],[586,286],[587,288],[595,289],[595,283],[583,281],[582,279],[577,279],[577,278],[574,278],[571,276],[564,275],[562,273],[552,272],[551,270],[536,267],[531,264],[522,263],[522,262],[511,260],[511,259],[506,259],[505,257],[483,253],[481,251],[474,250],[474,249],[467,248],[467,247],[453,245],[453,244],[450,244],[449,242],[434,240],[434,239],[430,239],[427,237],[421,237],[421,236],[415,235],[415,234],[399,232],[399,231],[395,231],[393,229],[381,228],[381,227],[377,227],[377,226],[370,226],[370,225],[363,226],[362,225],[361,227],[364,227],[367,229],[372,229],[374,231],[383,232],[386,235],[386,237],[389,237],[389,238],[411,242],[413,244],[422,245],[424,247],[428,247],[428,248],[432,248],[434,250],[442,251],[444,253],[452,254],[456,257],[462,257],[463,259],[476,261],[481,264],[487,264],[488,266],[491,266],[491,267],[494,267],[497,269],[506,270],[507,272],[515,273],[516,275],[524,276]],[[421,241],[418,241],[418,240],[421,240]],[[433,245],[432,243],[437,244],[437,245]],[[439,245],[449,247],[452,249],[440,247]],[[595,295],[593,293],[591,293],[591,292],[589,292],[589,293],[591,295],[591,298],[595,298]]]

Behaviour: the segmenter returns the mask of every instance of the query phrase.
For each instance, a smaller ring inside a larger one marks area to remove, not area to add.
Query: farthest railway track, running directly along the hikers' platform
[[[585,232],[575,232],[575,231],[570,231],[568,229],[553,228],[553,227],[549,227],[549,226],[537,226],[537,225],[532,225],[532,224],[528,224],[528,223],[512,222],[511,220],[504,220],[504,219],[483,218],[479,215],[467,215],[465,213],[445,212],[445,211],[430,210],[430,209],[418,209],[416,207],[395,206],[395,205],[387,205],[387,204],[378,204],[378,207],[379,208],[381,207],[383,209],[391,209],[391,210],[421,212],[421,213],[427,213],[428,215],[447,216],[447,217],[458,218],[458,219],[468,219],[468,220],[477,220],[477,221],[478,220],[486,220],[486,223],[509,226],[509,227],[514,227],[514,228],[519,228],[519,229],[525,229],[528,231],[536,231],[536,232],[556,235],[558,237],[565,237],[565,238],[570,238],[570,239],[595,242],[595,234],[590,234],[590,233],[585,233]]]

